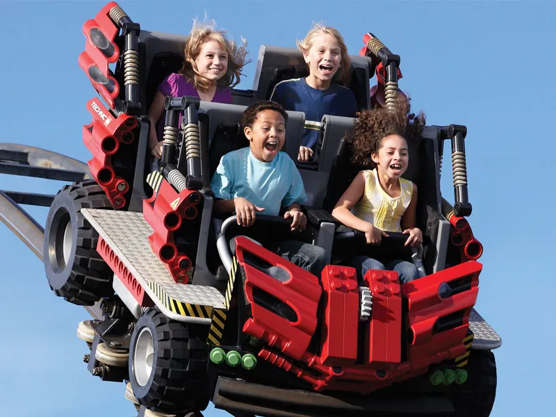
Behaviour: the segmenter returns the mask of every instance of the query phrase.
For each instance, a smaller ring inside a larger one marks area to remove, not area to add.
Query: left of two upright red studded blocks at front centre
[[[322,363],[349,365],[357,359],[359,286],[354,268],[328,265],[322,270],[325,290]]]

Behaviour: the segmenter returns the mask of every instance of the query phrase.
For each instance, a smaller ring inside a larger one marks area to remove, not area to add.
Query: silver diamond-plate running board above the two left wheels
[[[140,281],[153,300],[156,300],[156,295],[148,288],[149,282],[160,284],[174,300],[213,306],[217,309],[224,308],[224,296],[216,288],[174,282],[170,272],[152,252],[148,238],[153,230],[142,213],[94,208],[83,208],[81,213],[106,240],[133,277]]]

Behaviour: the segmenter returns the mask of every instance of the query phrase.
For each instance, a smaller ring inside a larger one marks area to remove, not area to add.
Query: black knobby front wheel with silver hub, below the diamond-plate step
[[[201,325],[188,325],[150,309],[138,320],[129,348],[129,380],[145,407],[180,414],[208,405],[206,338]],[[152,343],[152,347],[145,347]],[[152,366],[145,366],[152,348]]]

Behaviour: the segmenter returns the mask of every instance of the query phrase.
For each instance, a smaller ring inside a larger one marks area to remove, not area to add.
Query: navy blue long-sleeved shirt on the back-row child
[[[327,90],[312,88],[305,79],[286,80],[277,83],[272,101],[286,110],[305,113],[305,126],[301,145],[315,149],[323,115],[355,117],[357,101],[347,87],[331,84]]]

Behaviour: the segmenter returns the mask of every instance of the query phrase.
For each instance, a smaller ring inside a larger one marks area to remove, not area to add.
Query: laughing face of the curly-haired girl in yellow
[[[407,170],[409,155],[407,142],[402,136],[390,135],[382,139],[381,147],[372,154],[377,170],[390,179],[398,179]]]

